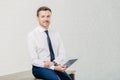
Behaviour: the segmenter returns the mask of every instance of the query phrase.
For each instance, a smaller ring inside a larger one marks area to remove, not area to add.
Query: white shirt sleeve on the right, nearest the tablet
[[[58,49],[57,49],[58,56],[55,58],[54,61],[58,64],[62,64],[65,61],[66,54],[65,54],[65,50],[64,50],[64,46],[63,46],[63,41],[62,41],[60,35],[57,34],[57,36],[58,36],[58,43],[59,43]]]

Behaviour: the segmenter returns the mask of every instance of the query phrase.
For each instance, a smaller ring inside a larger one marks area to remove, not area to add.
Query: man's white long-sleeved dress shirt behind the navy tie
[[[48,32],[55,55],[54,61],[58,64],[61,64],[65,59],[65,51],[61,38],[58,33],[54,32],[50,28],[48,29]],[[44,61],[50,61],[50,52],[45,29],[41,26],[38,26],[29,33],[27,40],[32,65],[43,67]],[[52,66],[50,68],[53,69],[54,67]]]

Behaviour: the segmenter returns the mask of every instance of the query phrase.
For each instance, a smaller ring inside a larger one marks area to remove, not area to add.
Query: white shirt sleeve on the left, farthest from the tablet
[[[31,58],[31,64],[37,67],[44,67],[44,62],[38,58],[38,55],[36,53],[37,47],[35,44],[34,37],[32,35],[28,35],[27,42],[28,42],[28,51]]]

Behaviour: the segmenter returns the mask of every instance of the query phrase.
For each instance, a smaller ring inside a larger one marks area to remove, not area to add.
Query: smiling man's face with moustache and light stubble
[[[39,16],[37,16],[39,24],[47,29],[50,25],[50,18],[51,18],[51,12],[46,10],[46,11],[40,11]]]

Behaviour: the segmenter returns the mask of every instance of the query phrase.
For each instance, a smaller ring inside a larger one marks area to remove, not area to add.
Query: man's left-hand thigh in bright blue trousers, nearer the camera
[[[42,78],[44,80],[59,80],[54,70],[41,67],[33,67],[32,73],[36,78]]]

